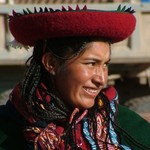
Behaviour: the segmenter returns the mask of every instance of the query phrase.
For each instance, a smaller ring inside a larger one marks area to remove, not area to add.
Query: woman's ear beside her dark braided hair
[[[52,75],[55,75],[56,61],[51,53],[45,53],[42,56],[42,63],[45,69]]]

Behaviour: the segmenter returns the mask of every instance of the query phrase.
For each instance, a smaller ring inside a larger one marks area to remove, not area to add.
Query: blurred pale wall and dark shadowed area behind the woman
[[[13,41],[8,28],[12,10],[34,7],[60,8],[76,4],[82,8],[116,10],[119,4],[135,9],[137,26],[133,35],[112,45],[108,85],[116,87],[120,103],[150,121],[150,0],[0,0],[0,104],[8,100],[12,88],[24,76],[25,62],[32,54],[9,46]]]

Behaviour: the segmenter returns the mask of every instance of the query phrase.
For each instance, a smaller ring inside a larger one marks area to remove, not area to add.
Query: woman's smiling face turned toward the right
[[[78,58],[56,68],[55,88],[69,105],[87,109],[94,105],[95,98],[108,78],[110,45],[91,42]]]

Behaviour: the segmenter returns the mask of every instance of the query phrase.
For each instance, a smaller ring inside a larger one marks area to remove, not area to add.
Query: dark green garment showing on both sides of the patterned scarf
[[[146,120],[121,105],[118,106],[117,119],[121,128],[143,146],[138,147],[136,144],[132,144],[121,131],[123,145],[128,145],[133,150],[150,150],[150,124]],[[6,119],[0,120],[0,150],[23,150],[25,143],[19,135],[21,129],[19,126],[18,129],[13,129],[13,126],[17,128],[18,125],[7,122]],[[149,148],[144,148],[144,146]]]

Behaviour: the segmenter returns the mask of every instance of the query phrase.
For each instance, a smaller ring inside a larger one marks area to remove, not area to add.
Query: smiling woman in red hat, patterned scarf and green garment
[[[77,6],[10,16],[15,40],[34,49],[24,80],[0,109],[2,148],[150,149],[149,123],[107,87],[111,44],[132,34],[133,12]]]

